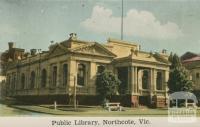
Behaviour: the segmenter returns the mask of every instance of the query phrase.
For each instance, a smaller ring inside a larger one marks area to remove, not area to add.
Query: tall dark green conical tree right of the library
[[[182,66],[182,63],[176,54],[170,54],[171,62],[168,87],[169,92],[192,91],[193,82],[189,80],[188,71]]]

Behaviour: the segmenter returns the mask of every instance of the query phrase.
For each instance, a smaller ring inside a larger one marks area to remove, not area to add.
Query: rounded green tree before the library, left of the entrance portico
[[[105,99],[109,100],[112,95],[116,95],[118,93],[119,85],[120,80],[112,72],[104,70],[97,74],[96,86],[101,101]]]

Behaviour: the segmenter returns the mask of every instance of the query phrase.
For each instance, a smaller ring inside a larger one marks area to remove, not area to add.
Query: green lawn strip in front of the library
[[[76,110],[72,106],[58,106],[57,110],[49,105],[27,106],[14,105],[14,108],[21,110],[39,112],[49,115],[58,116],[155,116],[166,117],[168,115],[167,109],[149,109],[149,108],[123,108],[124,111],[107,111],[100,106],[80,106]],[[197,110],[197,116],[200,116],[200,110]]]

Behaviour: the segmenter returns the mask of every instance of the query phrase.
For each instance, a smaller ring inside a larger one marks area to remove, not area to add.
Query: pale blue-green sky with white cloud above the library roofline
[[[200,53],[199,0],[123,0],[125,41],[144,51]],[[48,50],[77,33],[106,43],[121,37],[121,0],[0,0],[0,52],[8,42]]]

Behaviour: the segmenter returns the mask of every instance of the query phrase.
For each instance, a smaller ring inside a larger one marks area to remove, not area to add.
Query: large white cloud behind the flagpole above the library
[[[114,16],[111,9],[97,5],[81,26],[98,33],[120,34],[121,17]],[[129,10],[124,16],[124,34],[151,39],[176,39],[183,35],[176,23],[161,24],[153,13],[136,9]]]

